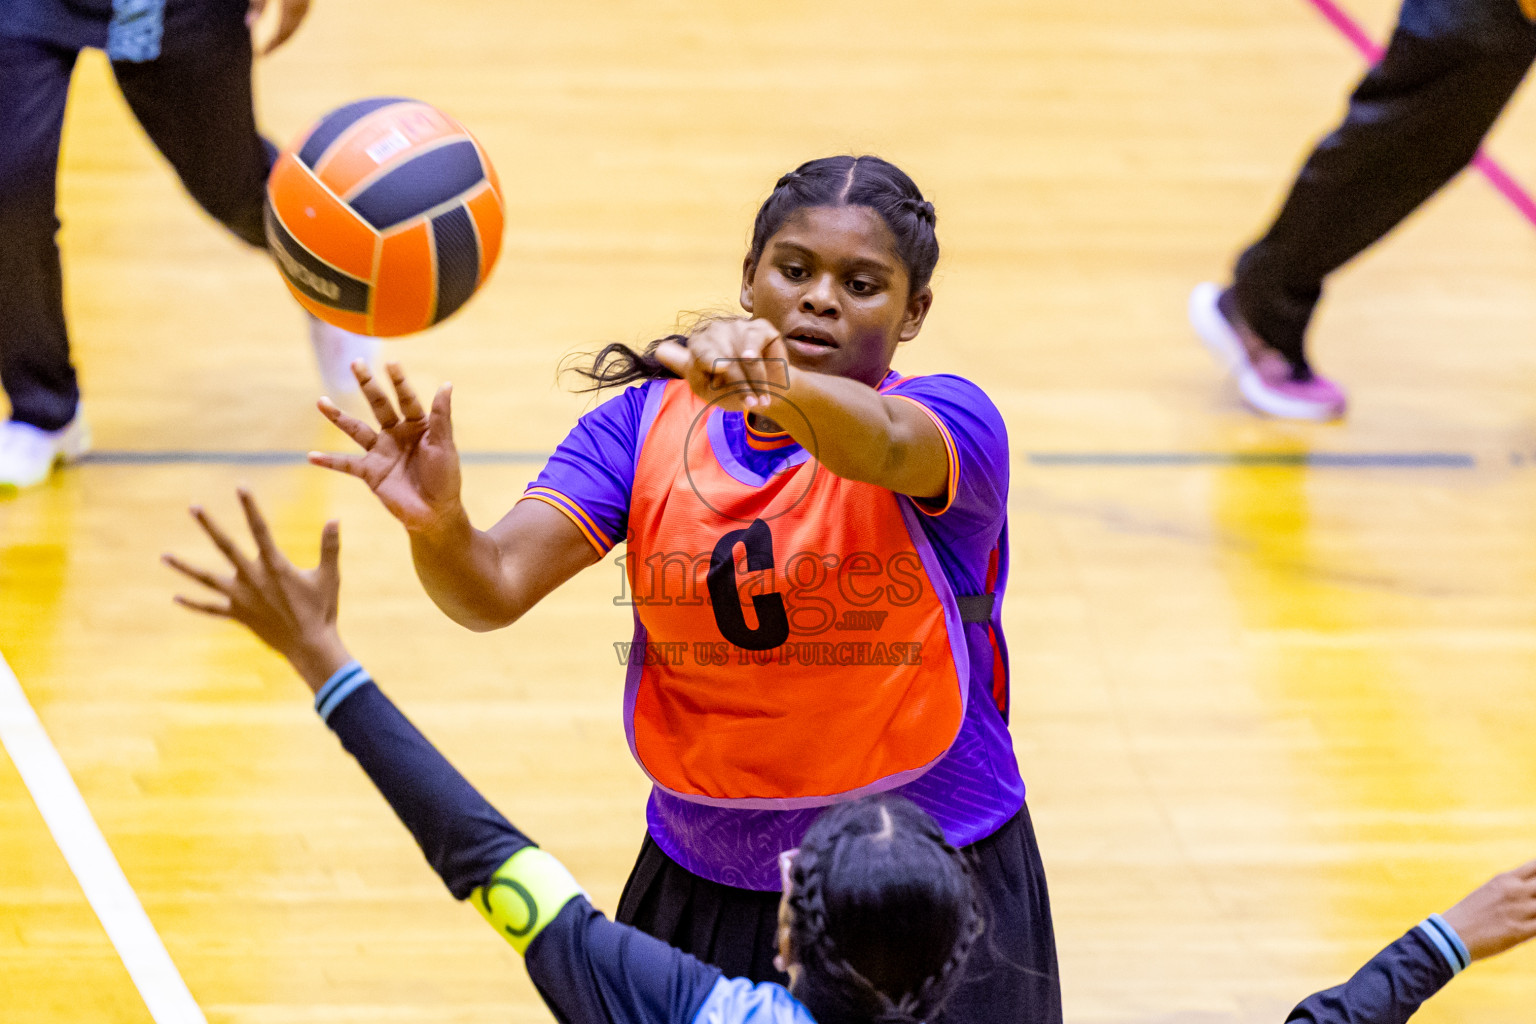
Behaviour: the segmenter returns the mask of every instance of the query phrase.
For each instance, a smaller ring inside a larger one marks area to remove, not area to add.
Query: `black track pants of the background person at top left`
[[[3,0],[0,0],[3,2]],[[161,55],[114,63],[129,107],[192,198],[252,246],[276,150],[257,134],[240,5],[169,3]],[[0,384],[11,416],[57,430],[75,415],[54,184],[78,51],[0,37]]]

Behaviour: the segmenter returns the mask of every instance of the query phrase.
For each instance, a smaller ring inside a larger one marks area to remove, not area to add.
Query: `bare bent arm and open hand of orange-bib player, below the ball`
[[[309,461],[367,484],[406,527],[416,577],[444,614],[470,629],[499,629],[596,562],[585,536],[542,502],[519,504],[490,531],[470,524],[459,500],[452,385],[438,388],[427,410],[399,364],[387,365],[393,399],[362,362],[352,370],[378,425],[321,399],[319,411],[361,451],[312,451]]]

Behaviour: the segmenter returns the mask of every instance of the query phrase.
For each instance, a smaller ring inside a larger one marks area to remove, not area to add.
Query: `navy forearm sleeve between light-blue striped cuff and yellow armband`
[[[339,669],[315,708],[410,829],[456,900],[485,883],[533,840],[501,817],[401,714],[361,665]]]

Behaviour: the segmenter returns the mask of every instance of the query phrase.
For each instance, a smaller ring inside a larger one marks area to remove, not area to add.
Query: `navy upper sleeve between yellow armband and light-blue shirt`
[[[528,976],[562,1024],[691,1024],[720,969],[627,924],[584,897],[525,953]]]

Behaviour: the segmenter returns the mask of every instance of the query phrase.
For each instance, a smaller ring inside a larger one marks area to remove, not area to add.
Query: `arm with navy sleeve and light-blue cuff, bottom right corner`
[[[1536,936],[1536,861],[1475,889],[1376,953],[1344,984],[1318,992],[1287,1021],[1401,1024],[1478,960]]]

